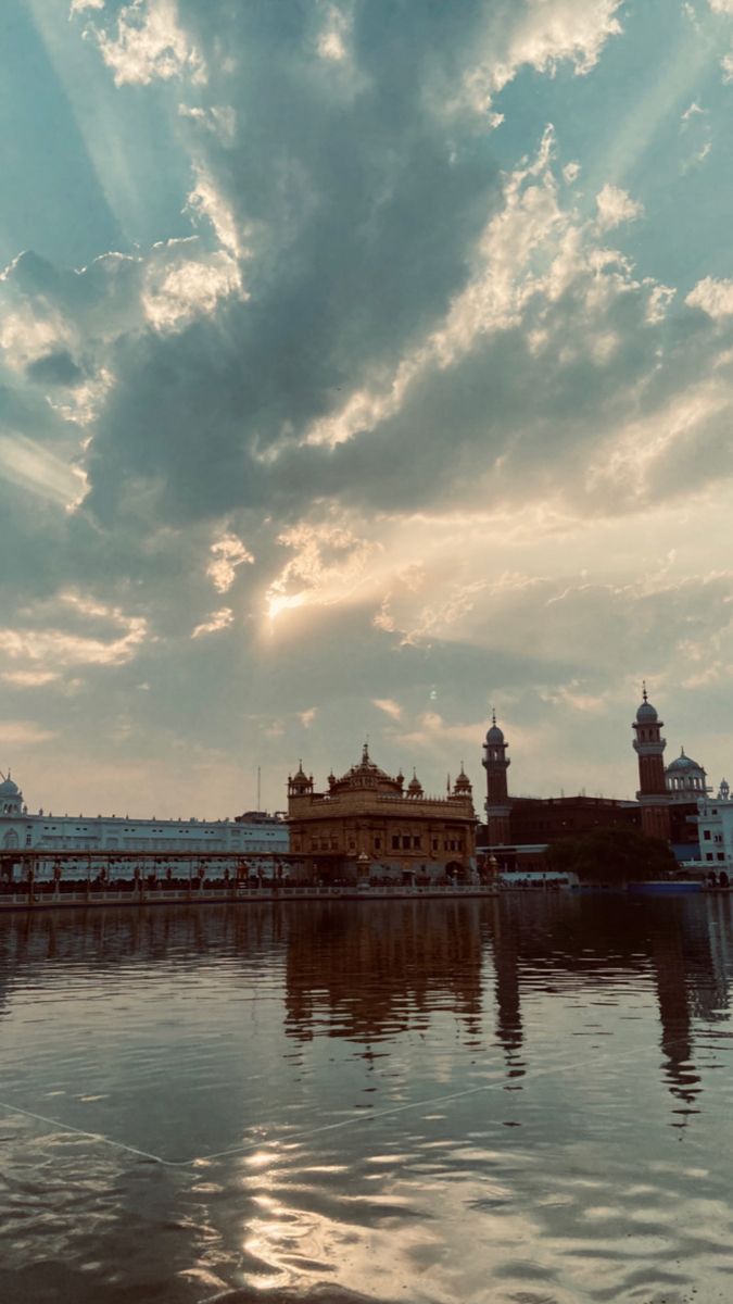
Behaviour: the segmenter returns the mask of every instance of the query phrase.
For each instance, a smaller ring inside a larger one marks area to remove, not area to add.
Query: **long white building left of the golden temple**
[[[237,819],[134,819],[129,815],[53,815],[29,811],[23,794],[8,775],[0,776],[0,855],[13,850],[48,852],[38,863],[38,876],[51,878],[53,853],[78,850],[83,872],[90,852],[155,852],[166,857],[173,875],[188,875],[188,861],[176,861],[176,852],[230,852],[241,855],[254,868],[273,872],[271,861],[257,861],[258,853],[278,855],[290,846],[288,827],[280,815],[248,811]],[[61,862],[64,878],[77,878],[80,862]],[[215,872],[215,871],[213,871]],[[117,862],[115,878],[132,878],[134,861]],[[16,870],[16,876],[18,871]]]

